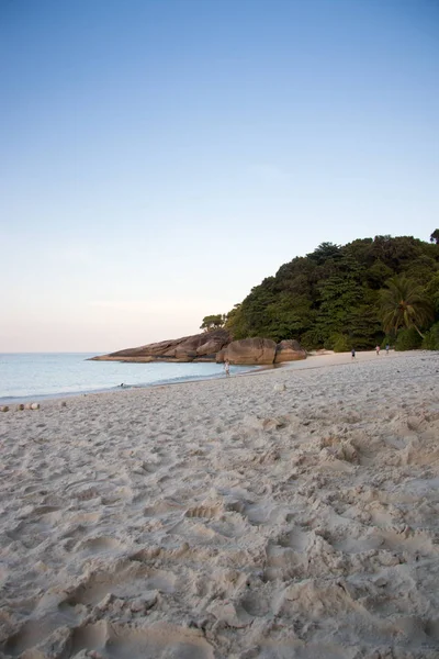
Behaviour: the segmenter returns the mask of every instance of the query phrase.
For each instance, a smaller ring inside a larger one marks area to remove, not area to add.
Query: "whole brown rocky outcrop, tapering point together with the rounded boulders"
[[[236,365],[271,365],[305,359],[306,353],[296,340],[243,338],[232,340],[226,330],[203,332],[170,340],[127,348],[110,355],[92,357],[102,361],[217,361],[228,359]]]

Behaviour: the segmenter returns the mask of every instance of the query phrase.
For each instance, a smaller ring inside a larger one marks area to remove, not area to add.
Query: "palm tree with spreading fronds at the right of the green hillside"
[[[386,290],[381,291],[384,332],[397,332],[399,327],[415,327],[424,338],[419,326],[434,319],[434,311],[423,289],[404,275],[392,277],[387,286]]]

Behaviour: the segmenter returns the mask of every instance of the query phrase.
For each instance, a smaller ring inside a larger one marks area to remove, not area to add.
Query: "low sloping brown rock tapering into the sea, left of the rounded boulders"
[[[138,348],[127,348],[92,359],[97,361],[215,361],[216,354],[230,340],[232,336],[226,330],[215,330]]]

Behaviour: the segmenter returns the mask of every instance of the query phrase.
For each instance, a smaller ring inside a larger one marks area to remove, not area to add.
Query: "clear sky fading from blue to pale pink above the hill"
[[[437,0],[0,0],[0,353],[199,332],[439,225]]]

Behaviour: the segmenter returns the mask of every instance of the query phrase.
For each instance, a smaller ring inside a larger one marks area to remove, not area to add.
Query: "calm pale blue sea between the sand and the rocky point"
[[[88,361],[89,353],[0,354],[0,402],[224,378],[221,364]],[[251,367],[230,367],[230,375]]]

